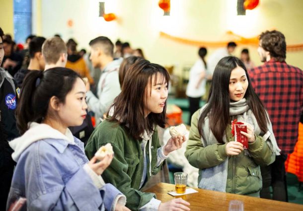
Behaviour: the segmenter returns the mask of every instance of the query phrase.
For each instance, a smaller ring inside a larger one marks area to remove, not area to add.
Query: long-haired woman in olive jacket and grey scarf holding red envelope
[[[247,126],[247,133],[240,132],[248,139],[247,149],[231,134],[236,119]],[[272,163],[279,151],[244,64],[236,57],[223,58],[215,68],[207,104],[192,117],[185,152],[189,163],[200,169],[198,187],[259,197],[260,165]]]

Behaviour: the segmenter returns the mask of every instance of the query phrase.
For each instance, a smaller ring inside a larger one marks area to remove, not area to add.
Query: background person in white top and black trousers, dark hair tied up
[[[206,62],[205,56],[207,54],[206,48],[199,49],[199,59],[190,69],[189,81],[186,88],[186,96],[189,99],[189,122],[191,123],[191,116],[200,108],[200,99],[205,94],[206,83]]]

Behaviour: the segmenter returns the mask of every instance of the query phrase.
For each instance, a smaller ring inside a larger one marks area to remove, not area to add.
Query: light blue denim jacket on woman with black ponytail
[[[83,143],[75,137],[74,141],[43,139],[26,147],[17,161],[7,208],[25,197],[30,211],[112,210],[121,192],[111,184],[101,190],[94,185],[83,169],[88,162]]]

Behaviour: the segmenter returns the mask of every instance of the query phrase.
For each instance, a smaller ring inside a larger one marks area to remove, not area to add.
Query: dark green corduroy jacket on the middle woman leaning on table
[[[143,193],[139,190],[144,168],[141,141],[133,139],[125,126],[105,120],[94,130],[85,146],[85,154],[88,159],[91,159],[101,146],[106,143],[112,144],[114,158],[110,166],[102,173],[102,178],[106,183],[113,184],[126,196],[126,207],[134,211],[150,202],[151,198],[155,198],[154,194]],[[159,147],[158,133],[155,131],[151,142],[152,175],[157,174],[160,170],[160,166],[155,166]],[[148,147],[146,147],[146,154],[149,157]],[[149,169],[149,163],[147,169]],[[148,179],[150,179],[149,171]]]

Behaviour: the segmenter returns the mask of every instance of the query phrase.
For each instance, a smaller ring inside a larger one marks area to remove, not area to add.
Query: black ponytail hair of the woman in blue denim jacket
[[[78,73],[67,68],[30,71],[24,78],[16,110],[20,134],[27,131],[29,122],[42,122],[53,96],[65,103],[66,95],[73,89],[78,77]]]

